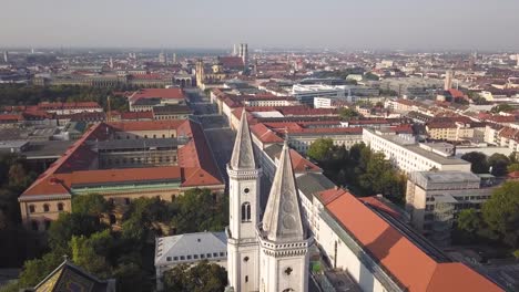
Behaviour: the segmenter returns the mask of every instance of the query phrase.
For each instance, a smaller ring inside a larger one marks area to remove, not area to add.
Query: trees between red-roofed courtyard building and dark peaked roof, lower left
[[[99,278],[115,278],[120,291],[151,291],[156,236],[169,230],[221,231],[228,218],[226,201],[215,201],[208,189],[187,190],[172,202],[135,199],[123,215],[120,230],[104,223],[111,212],[113,206],[100,195],[73,197],[72,212],[61,213],[48,230],[49,252],[27,261],[19,283],[8,291],[35,285],[63,261],[63,254]],[[206,275],[213,284],[212,277]]]

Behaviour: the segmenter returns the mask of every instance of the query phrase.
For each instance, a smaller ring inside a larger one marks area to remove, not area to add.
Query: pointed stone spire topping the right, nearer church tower
[[[263,230],[273,241],[306,239],[289,150],[285,139],[263,216]]]

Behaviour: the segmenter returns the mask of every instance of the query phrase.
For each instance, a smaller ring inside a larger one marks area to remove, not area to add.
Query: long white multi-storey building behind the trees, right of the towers
[[[363,140],[373,150],[384,153],[387,159],[405,173],[431,169],[470,171],[470,163],[429,145],[416,143],[409,135],[364,128]]]

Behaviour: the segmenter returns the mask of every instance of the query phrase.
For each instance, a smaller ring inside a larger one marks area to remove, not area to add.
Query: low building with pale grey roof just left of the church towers
[[[155,241],[155,272],[157,290],[163,289],[163,274],[177,264],[196,264],[203,260],[227,267],[225,232],[196,232],[157,238]]]

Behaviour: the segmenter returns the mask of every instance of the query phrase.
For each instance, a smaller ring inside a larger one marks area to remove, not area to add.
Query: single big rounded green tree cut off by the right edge
[[[507,181],[496,189],[482,205],[482,217],[506,244],[518,247],[519,181]]]

